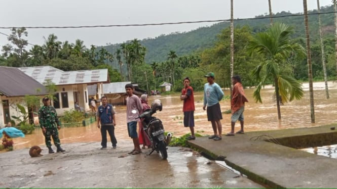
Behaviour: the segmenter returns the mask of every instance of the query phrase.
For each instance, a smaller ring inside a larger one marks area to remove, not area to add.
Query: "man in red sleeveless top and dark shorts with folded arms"
[[[190,127],[191,136],[188,140],[196,139],[194,135],[194,95],[193,88],[190,86],[190,79],[188,77],[183,80],[184,88],[181,90],[180,100],[184,101],[182,105],[182,111],[184,113],[184,127]]]

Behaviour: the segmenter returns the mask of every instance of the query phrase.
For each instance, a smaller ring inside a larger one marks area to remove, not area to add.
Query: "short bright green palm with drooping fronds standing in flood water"
[[[262,103],[260,90],[266,82],[272,81],[275,85],[278,119],[281,119],[280,98],[282,102],[301,99],[303,89],[301,83],[289,73],[283,73],[280,65],[296,53],[305,55],[303,46],[298,43],[291,44],[290,34],[293,32],[287,25],[273,24],[266,32],[257,33],[248,41],[248,52],[256,52],[265,57],[265,61],[259,64],[252,72],[253,79],[257,81],[257,87],[253,93],[256,102]]]

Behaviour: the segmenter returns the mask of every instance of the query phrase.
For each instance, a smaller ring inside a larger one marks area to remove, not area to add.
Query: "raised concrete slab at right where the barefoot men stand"
[[[224,137],[220,143],[209,140],[206,137],[198,137],[196,140],[189,140],[188,145],[198,149],[199,152],[206,154],[211,159],[216,160],[226,157],[223,160],[227,165],[241,174],[245,174],[249,179],[268,187],[327,187],[333,184],[330,183],[331,181],[329,182],[326,175],[322,175],[318,165],[322,166],[321,162],[332,163],[334,160],[318,157],[287,146],[295,145],[294,148],[309,148],[337,144],[337,132],[330,129],[335,126],[337,124],[310,128],[246,132],[246,134]],[[260,135],[273,136],[281,145],[273,144],[268,139],[251,140],[254,136]],[[266,141],[269,141],[269,143],[266,143]],[[305,161],[309,161],[307,163],[308,166],[303,167],[303,165],[306,165]],[[318,167],[316,168],[316,166]],[[331,172],[335,166],[326,167],[331,170],[325,171]],[[303,168],[305,168],[303,170],[305,174],[296,175],[296,172]],[[295,179],[293,177],[296,177],[298,181],[291,180]],[[311,178],[313,180],[319,178],[325,181],[322,183],[306,183],[306,180]]]

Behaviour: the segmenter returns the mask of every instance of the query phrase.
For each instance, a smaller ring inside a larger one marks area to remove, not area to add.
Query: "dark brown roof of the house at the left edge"
[[[43,84],[24,74],[19,69],[3,66],[0,66],[0,92],[0,95],[7,97],[48,94]]]

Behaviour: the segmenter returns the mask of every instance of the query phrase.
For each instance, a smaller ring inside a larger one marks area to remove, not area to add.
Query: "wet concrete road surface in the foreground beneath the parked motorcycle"
[[[129,155],[131,141],[117,149],[100,143],[63,144],[65,153],[31,158],[29,149],[0,154],[0,188],[261,188],[248,178],[208,160],[189,148],[169,147],[168,159],[157,152]],[[55,149],[55,147],[53,147]]]

